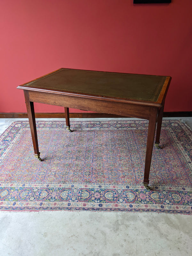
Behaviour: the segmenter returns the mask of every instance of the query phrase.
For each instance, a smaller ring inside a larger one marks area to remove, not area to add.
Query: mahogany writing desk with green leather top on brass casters
[[[170,76],[151,76],[60,68],[50,74],[18,86],[25,95],[34,156],[40,161],[34,102],[65,108],[69,132],[69,108],[148,119],[144,186],[150,190],[149,172],[156,130],[159,146],[164,101]]]

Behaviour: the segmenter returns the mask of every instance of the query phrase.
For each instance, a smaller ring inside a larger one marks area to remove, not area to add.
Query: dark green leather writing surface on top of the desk
[[[165,79],[166,76],[61,68],[22,87],[156,102]]]

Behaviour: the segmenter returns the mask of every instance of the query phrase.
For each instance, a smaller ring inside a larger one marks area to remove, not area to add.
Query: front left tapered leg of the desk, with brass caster
[[[40,152],[39,152],[39,146],[38,146],[38,140],[37,140],[34,104],[32,101],[29,100],[28,91],[24,90],[24,95],[25,95],[25,103],[26,103],[28,119],[29,119],[29,126],[31,130],[31,137],[33,141],[33,148],[35,153],[34,156],[38,158],[39,161],[42,161],[40,158]]]

